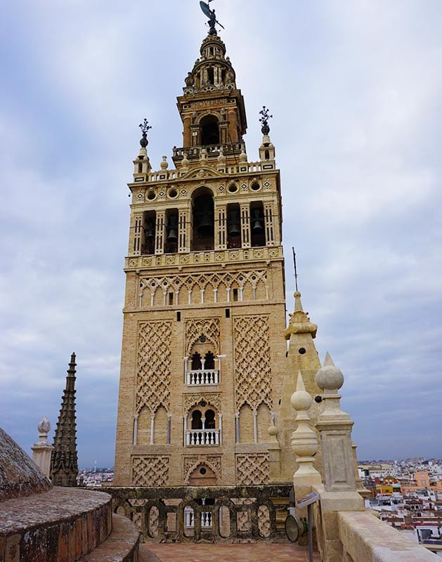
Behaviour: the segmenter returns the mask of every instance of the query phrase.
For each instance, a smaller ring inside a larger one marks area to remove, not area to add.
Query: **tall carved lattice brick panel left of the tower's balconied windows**
[[[170,407],[171,322],[141,322],[138,327],[136,412],[155,414]]]

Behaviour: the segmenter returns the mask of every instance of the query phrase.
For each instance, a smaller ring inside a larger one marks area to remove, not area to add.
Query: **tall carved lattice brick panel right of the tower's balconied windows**
[[[272,410],[271,361],[268,320],[263,316],[235,318],[235,407],[248,404],[256,412],[260,404]]]

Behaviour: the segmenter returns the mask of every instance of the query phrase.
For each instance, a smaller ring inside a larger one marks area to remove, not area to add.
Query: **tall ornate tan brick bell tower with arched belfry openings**
[[[287,481],[280,173],[266,108],[259,157],[247,156],[244,99],[214,26],[177,105],[174,166],[163,157],[152,171],[145,121],[129,183],[114,483]]]

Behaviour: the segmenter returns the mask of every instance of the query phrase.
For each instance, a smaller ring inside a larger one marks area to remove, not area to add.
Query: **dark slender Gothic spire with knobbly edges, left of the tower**
[[[53,440],[51,480],[54,486],[77,485],[77,431],[75,417],[75,353],[70,358],[66,388]]]

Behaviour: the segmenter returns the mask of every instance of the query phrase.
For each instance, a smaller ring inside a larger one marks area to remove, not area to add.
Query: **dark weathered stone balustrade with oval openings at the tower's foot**
[[[112,494],[115,513],[133,521],[145,542],[285,542],[291,489],[289,485],[105,488]],[[186,526],[189,511],[192,528]]]

